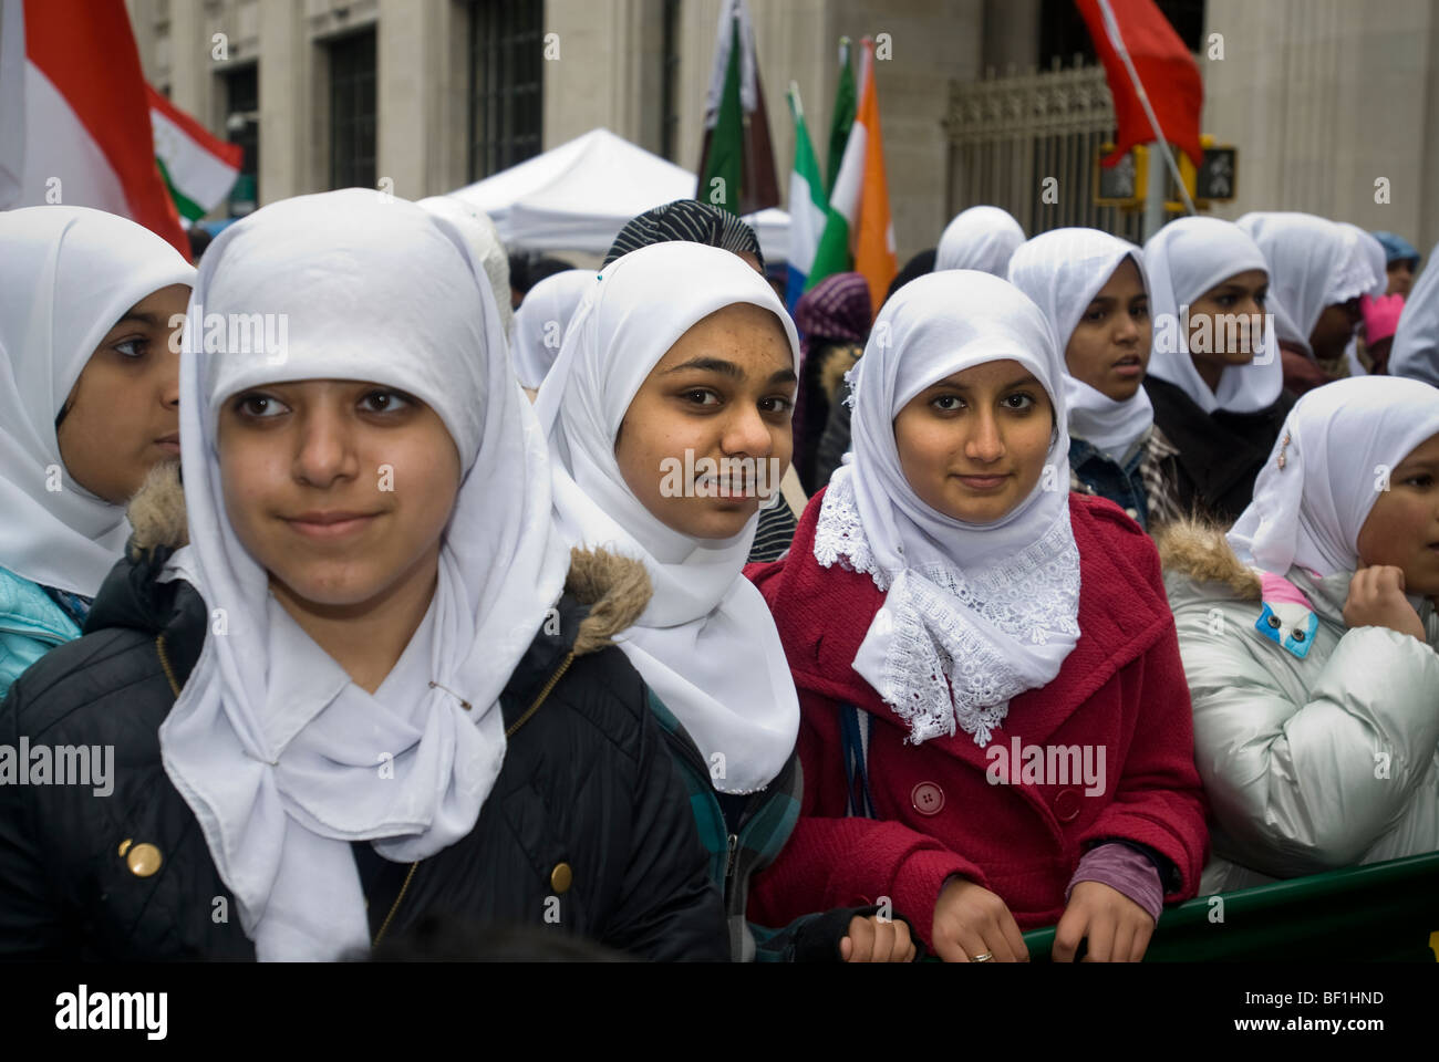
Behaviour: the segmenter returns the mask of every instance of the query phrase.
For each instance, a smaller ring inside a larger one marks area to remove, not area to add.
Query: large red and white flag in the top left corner
[[[0,0],[0,209],[131,217],[190,258],[124,0]]]

